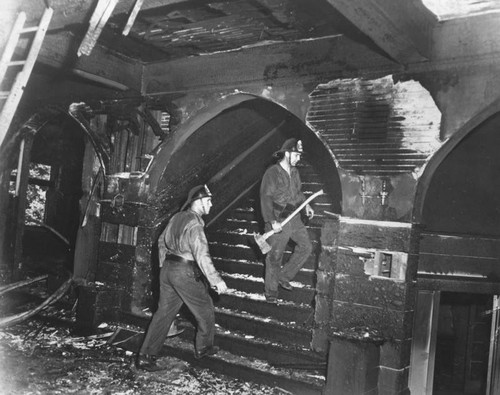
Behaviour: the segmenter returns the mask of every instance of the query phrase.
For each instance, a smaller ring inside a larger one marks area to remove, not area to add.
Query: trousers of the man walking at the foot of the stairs
[[[196,319],[196,350],[199,352],[213,345],[215,315],[208,287],[203,281],[196,280],[191,265],[166,260],[160,270],[158,310],[149,324],[141,353],[158,354],[183,303]]]

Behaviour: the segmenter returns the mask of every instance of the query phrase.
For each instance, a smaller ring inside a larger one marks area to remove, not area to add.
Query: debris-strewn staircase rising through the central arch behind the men
[[[323,188],[311,166],[302,165],[299,171],[306,197]],[[307,224],[313,253],[291,282],[293,291],[280,288],[278,303],[271,304],[264,297],[265,257],[253,240],[254,232],[262,232],[258,192],[256,186],[206,230],[214,264],[230,288],[227,294],[214,295],[215,341],[221,351],[195,360],[195,328],[192,320],[185,319],[180,323],[184,333],[167,340],[165,353],[195,366],[279,387],[284,393],[319,395],[325,384],[327,356],[311,351],[310,344],[315,268],[323,210],[331,210],[329,197],[322,195],[313,202],[315,217]],[[290,253],[291,248],[285,260]]]

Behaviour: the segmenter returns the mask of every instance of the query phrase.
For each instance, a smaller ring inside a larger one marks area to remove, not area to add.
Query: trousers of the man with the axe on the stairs
[[[282,266],[283,254],[290,239],[296,246],[288,262]],[[271,246],[271,251],[266,256],[265,293],[268,296],[277,296],[278,282],[290,281],[295,277],[311,254],[312,244],[299,216],[292,218],[280,233],[269,237],[267,242]]]

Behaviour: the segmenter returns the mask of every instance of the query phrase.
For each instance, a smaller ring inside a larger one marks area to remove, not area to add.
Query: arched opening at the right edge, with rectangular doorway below
[[[460,131],[421,179],[412,376],[426,377],[425,393],[494,394],[499,388],[499,127],[495,113]],[[423,360],[422,352],[428,354]]]

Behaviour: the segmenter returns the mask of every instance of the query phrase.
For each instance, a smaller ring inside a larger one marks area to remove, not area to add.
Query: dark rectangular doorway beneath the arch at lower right
[[[492,303],[491,295],[441,294],[433,394],[485,394]]]

